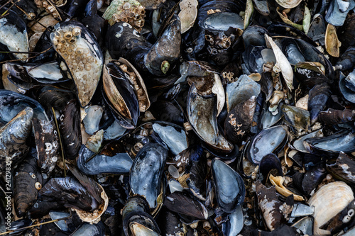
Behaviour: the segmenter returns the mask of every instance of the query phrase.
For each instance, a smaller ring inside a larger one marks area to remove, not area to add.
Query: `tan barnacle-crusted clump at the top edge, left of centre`
[[[144,26],[146,11],[139,1],[136,0],[114,0],[102,16],[112,26],[116,22],[129,23],[133,28],[141,32]]]

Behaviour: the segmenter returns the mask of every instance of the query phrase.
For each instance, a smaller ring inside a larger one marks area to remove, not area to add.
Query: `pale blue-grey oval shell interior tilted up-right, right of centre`
[[[285,145],[288,140],[288,133],[283,126],[273,126],[261,130],[251,140],[251,143],[246,150],[248,159],[255,163],[260,164],[261,159],[267,153],[278,152],[280,148]]]

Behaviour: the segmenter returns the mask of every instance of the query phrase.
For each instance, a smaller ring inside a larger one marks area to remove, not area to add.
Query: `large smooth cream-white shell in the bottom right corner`
[[[315,218],[315,235],[330,235],[329,231],[321,230],[320,227],[337,215],[353,200],[353,191],[342,181],[326,184],[315,192],[307,202],[308,205],[315,206],[315,213],[313,213],[313,217]]]

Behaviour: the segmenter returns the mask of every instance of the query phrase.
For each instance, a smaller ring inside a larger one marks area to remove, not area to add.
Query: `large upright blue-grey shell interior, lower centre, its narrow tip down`
[[[129,184],[134,194],[146,196],[151,208],[157,206],[160,181],[168,151],[157,143],[148,143],[137,153],[129,174]]]

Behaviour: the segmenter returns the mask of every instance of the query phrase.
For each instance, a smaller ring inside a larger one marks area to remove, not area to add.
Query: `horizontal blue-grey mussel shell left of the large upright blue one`
[[[128,174],[133,160],[128,153],[116,153],[110,157],[105,154],[96,154],[87,162],[87,159],[95,155],[85,145],[82,145],[77,159],[77,167],[84,174]]]

